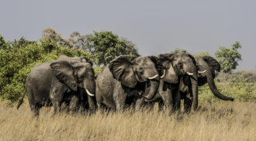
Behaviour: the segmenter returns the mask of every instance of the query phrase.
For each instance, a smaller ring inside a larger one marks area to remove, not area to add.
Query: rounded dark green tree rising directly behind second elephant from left
[[[112,32],[94,32],[88,38],[94,48],[94,57],[98,65],[106,65],[119,55],[138,55],[135,45]]]

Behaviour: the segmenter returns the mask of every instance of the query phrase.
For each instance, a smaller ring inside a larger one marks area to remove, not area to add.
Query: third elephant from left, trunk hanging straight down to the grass
[[[145,100],[150,106],[154,106],[154,101],[159,102],[159,108],[166,106],[170,113],[180,109],[181,97],[179,93],[179,83],[182,77],[187,77],[186,82],[192,84],[192,100],[195,102],[194,109],[198,106],[198,82],[195,59],[192,55],[185,53],[166,53],[157,56],[161,60],[163,70],[157,95],[152,100]],[[186,72],[193,73],[189,76]],[[146,90],[147,91],[147,90]],[[141,104],[139,104],[139,107]]]

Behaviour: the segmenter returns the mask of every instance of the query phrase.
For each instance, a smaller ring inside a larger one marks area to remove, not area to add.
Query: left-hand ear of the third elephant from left
[[[175,59],[174,57],[175,55],[172,53],[165,53],[157,56],[157,58],[161,60],[162,68],[165,71],[163,71],[163,74],[161,75],[161,79],[164,79],[164,82],[178,83],[178,75],[171,63],[173,59]]]

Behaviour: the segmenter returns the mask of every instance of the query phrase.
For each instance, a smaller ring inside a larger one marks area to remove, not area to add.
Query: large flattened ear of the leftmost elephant
[[[74,78],[74,69],[66,61],[57,61],[50,64],[50,68],[54,70],[54,76],[63,82],[67,87],[73,91],[78,90],[78,83]]]

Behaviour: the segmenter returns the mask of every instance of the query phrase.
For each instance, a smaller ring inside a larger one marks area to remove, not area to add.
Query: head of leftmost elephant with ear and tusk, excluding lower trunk
[[[78,86],[85,89],[89,96],[95,96],[95,76],[92,62],[85,57],[61,56],[50,64],[54,76],[69,89],[78,90]]]

